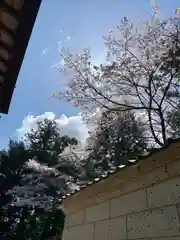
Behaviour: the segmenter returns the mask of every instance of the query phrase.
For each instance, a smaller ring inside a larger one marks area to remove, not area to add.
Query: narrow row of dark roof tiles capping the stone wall
[[[147,152],[146,154],[143,154],[139,157],[137,157],[136,159],[131,159],[127,162],[126,165],[119,165],[117,168],[114,168],[114,169],[110,169],[109,171],[107,171],[106,173],[102,174],[101,176],[99,176],[98,178],[95,178],[93,181],[91,182],[87,182],[86,184],[83,184],[81,186],[79,186],[77,189],[67,193],[66,195],[62,196],[62,198],[60,199],[60,202],[62,202],[63,200],[65,200],[66,198],[72,196],[72,195],[75,195],[76,193],[78,193],[79,191],[89,187],[89,186],[92,186],[93,184],[96,184],[98,182],[100,182],[101,180],[103,179],[106,179],[108,178],[109,176],[119,172],[119,171],[123,171],[125,168],[127,167],[130,167],[134,164],[137,164],[139,163],[139,161],[141,160],[146,160],[146,158],[149,158],[150,156],[158,153],[158,152],[161,152],[163,151],[164,149],[168,148],[170,145],[176,143],[176,142],[180,142],[180,138],[177,138],[177,139],[168,139],[167,143],[161,147],[161,148],[153,148],[151,149],[151,151]]]

